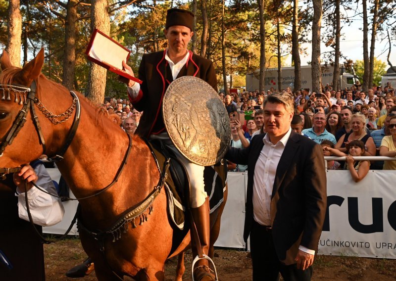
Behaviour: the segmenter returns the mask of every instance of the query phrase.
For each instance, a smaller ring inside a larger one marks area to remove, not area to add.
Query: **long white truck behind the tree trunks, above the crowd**
[[[326,86],[326,84],[331,85],[333,83],[333,71],[334,66],[331,65],[321,65],[322,68],[322,85]],[[341,89],[352,87],[356,84],[357,79],[350,73],[343,73],[340,69],[340,85]],[[259,70],[255,70],[254,72],[250,72],[246,74],[246,91],[252,92],[258,89],[259,85]],[[281,72],[281,83],[282,90],[287,87],[292,87],[294,89],[294,66],[292,67],[283,67]],[[265,91],[270,90],[271,87],[278,91],[278,68],[268,68],[265,71]],[[312,74],[311,74],[311,66],[304,65],[301,66],[301,88],[309,88],[312,90]],[[297,89],[296,89],[297,90]]]

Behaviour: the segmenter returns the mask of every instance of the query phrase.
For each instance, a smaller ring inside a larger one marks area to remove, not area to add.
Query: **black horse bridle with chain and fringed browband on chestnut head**
[[[18,115],[16,116],[11,129],[7,132],[6,136],[4,137],[4,141],[1,142],[0,157],[2,156],[7,145],[12,144],[12,141],[14,141],[14,139],[18,135],[19,131],[22,129],[23,125],[26,122],[26,117],[27,117],[29,111],[32,114],[33,123],[34,123],[36,131],[39,135],[40,143],[43,146],[43,154],[46,154],[46,141],[44,140],[44,134],[43,134],[43,131],[40,126],[40,121],[36,114],[35,107],[33,106],[34,104],[36,104],[36,106],[39,108],[39,110],[42,111],[43,114],[54,125],[63,123],[66,120],[68,120],[71,117],[74,109],[76,109],[76,114],[74,115],[73,124],[72,124],[71,129],[68,133],[65,144],[63,145],[62,149],[60,149],[60,151],[58,153],[56,153],[54,156],[51,156],[48,158],[49,161],[62,160],[64,153],[66,152],[67,148],[70,146],[70,143],[73,141],[73,138],[77,132],[78,124],[80,122],[80,100],[79,100],[77,94],[75,94],[73,91],[70,91],[70,94],[73,97],[71,106],[65,112],[63,112],[59,115],[54,115],[53,113],[48,111],[47,108],[43,105],[43,103],[36,97],[36,91],[37,91],[36,81],[32,82],[32,85],[30,86],[30,88],[23,86],[23,85],[15,85],[15,84],[1,85],[0,84],[0,90],[3,91],[3,96],[1,98],[2,100],[11,100],[10,91],[12,90],[15,93],[14,102],[18,102],[17,93],[19,93],[19,97],[20,97],[19,104],[23,104],[23,107],[19,111]],[[5,91],[8,92],[7,97],[5,97]],[[26,93],[28,93],[28,94],[26,95]],[[59,118],[59,117],[61,117],[62,119],[57,120],[56,118]],[[7,174],[18,172],[20,169],[21,169],[20,166],[14,167],[14,168],[0,168],[0,179],[4,180],[5,176]]]

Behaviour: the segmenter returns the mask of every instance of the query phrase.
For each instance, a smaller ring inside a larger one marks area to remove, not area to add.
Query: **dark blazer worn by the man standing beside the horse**
[[[254,136],[249,147],[231,147],[225,158],[248,165],[244,239],[253,224],[253,175],[264,146],[264,134]],[[327,206],[326,172],[322,148],[292,131],[276,170],[271,197],[271,225],[279,260],[294,264],[298,247],[317,251]]]

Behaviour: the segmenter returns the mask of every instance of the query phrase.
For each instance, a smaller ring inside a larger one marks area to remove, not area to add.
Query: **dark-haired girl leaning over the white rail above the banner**
[[[364,179],[370,169],[370,161],[355,161],[353,156],[363,156],[366,151],[363,141],[354,140],[347,143],[348,154],[331,147],[323,147],[323,150],[330,151],[335,156],[347,156],[347,170],[349,170],[352,180],[355,183]],[[327,156],[327,155],[326,155]]]

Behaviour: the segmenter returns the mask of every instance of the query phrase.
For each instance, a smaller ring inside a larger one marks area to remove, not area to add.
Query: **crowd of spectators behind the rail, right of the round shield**
[[[265,133],[263,103],[272,93],[273,88],[267,92],[219,94],[231,119],[231,146],[244,147],[255,135]],[[369,169],[396,170],[396,161],[353,158],[396,157],[396,96],[391,85],[373,87],[367,93],[360,85],[342,91],[326,85],[322,93],[309,89],[292,92],[288,87],[282,93],[295,99],[291,127],[297,134],[321,144],[324,156],[346,156],[346,161],[327,161],[327,169],[349,170],[355,182],[361,181]],[[231,171],[248,169],[228,164]]]

